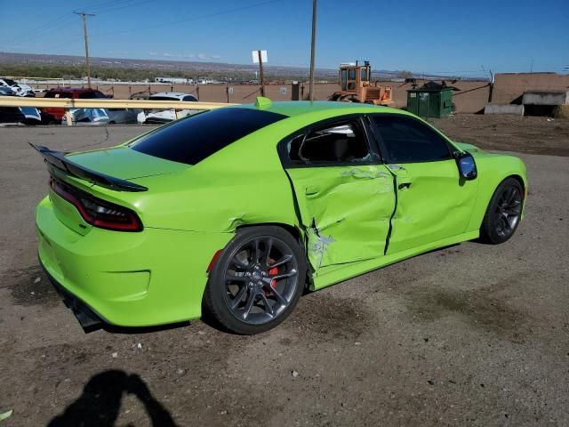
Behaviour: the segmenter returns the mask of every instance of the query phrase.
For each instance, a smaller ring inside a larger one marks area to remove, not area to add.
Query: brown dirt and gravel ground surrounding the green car
[[[251,337],[201,321],[84,334],[37,264],[47,173],[27,142],[94,149],[144,129],[0,128],[0,414],[13,409],[0,425],[569,425],[569,125],[437,125],[534,153],[521,155],[531,186],[517,235],[307,294],[282,326]]]

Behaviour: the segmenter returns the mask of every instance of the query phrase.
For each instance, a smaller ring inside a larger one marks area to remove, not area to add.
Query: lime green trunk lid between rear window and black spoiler
[[[92,171],[105,173],[122,180],[176,173],[187,170],[184,165],[163,158],[148,156],[126,146],[68,154],[69,160]]]

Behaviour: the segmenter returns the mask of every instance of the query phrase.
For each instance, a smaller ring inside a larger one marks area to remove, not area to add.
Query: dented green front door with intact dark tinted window
[[[378,114],[372,121],[396,178],[397,210],[387,254],[463,233],[478,182],[461,179],[452,147],[413,117]]]

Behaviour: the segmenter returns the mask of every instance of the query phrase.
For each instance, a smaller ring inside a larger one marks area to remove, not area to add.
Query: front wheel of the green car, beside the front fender
[[[480,240],[493,245],[509,240],[519,225],[524,202],[524,189],[517,179],[501,181],[486,208]]]

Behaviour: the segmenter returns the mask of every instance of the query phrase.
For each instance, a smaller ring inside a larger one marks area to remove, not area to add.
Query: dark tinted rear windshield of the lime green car
[[[134,141],[140,153],[196,165],[249,133],[286,116],[258,109],[213,109],[165,125]]]

